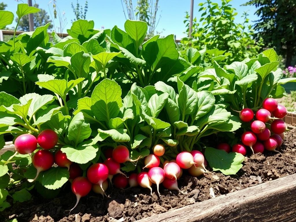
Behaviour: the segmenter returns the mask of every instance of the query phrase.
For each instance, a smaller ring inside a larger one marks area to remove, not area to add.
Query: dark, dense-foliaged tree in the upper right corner
[[[254,25],[256,38],[262,37],[267,47],[275,47],[284,55],[286,67],[296,55],[296,1],[251,0],[244,5],[255,5],[260,17]]]

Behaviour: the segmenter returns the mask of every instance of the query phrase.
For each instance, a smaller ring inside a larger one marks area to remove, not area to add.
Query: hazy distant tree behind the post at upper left
[[[33,5],[36,8],[39,8],[38,4],[34,4]],[[47,15],[47,12],[44,9],[41,9],[40,12],[34,14],[33,16],[33,20],[34,20],[34,29],[36,29],[39,26],[42,25],[46,25],[48,22],[52,22],[52,20],[50,20],[49,15]],[[15,18],[15,21],[18,21],[18,18]],[[48,29],[51,30],[53,27],[52,24],[49,25]],[[21,18],[20,23],[17,27],[17,30],[20,31],[29,31],[29,16],[25,15]]]

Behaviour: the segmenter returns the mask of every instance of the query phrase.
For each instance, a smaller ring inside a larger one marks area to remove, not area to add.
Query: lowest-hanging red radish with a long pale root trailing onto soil
[[[73,180],[72,185],[72,192],[76,195],[76,204],[70,210],[70,212],[78,205],[78,202],[81,197],[85,197],[91,191],[91,183],[86,177],[77,177]]]

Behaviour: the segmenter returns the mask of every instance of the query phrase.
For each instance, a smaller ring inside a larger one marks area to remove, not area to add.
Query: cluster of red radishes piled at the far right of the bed
[[[268,151],[279,152],[276,150],[283,143],[284,132],[287,130],[286,123],[281,120],[287,115],[287,109],[283,105],[278,105],[276,99],[267,98],[263,101],[262,108],[255,114],[249,108],[240,111],[239,117],[243,122],[251,122],[251,131],[242,134],[243,144],[235,144],[232,147],[233,152],[246,155],[247,149],[251,148],[253,153],[262,153],[264,149]],[[230,152],[229,144],[222,143],[218,149]]]

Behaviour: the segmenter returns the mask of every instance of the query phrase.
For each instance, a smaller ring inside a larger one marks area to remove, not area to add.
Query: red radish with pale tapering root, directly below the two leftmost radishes
[[[48,150],[38,150],[34,156],[32,157],[32,163],[34,167],[37,169],[36,177],[32,179],[28,179],[28,182],[33,182],[39,176],[39,173],[45,170],[48,170],[54,164],[54,155]]]

